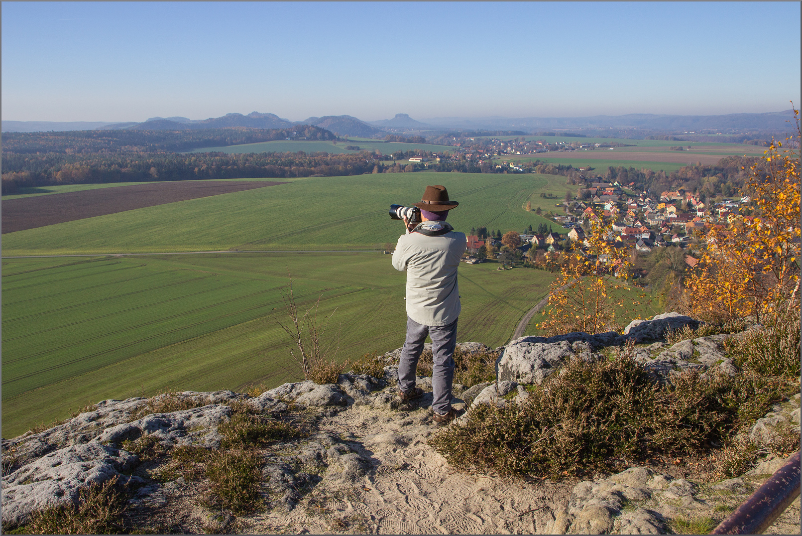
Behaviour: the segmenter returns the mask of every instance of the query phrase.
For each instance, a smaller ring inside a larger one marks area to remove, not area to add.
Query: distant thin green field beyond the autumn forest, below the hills
[[[337,154],[347,153],[356,154],[359,151],[346,150],[346,145],[356,145],[359,150],[375,151],[379,149],[382,154],[389,155],[395,151],[414,151],[420,149],[422,151],[431,152],[445,152],[453,151],[454,148],[448,145],[432,145],[432,144],[402,144],[397,141],[379,141],[379,140],[350,140],[338,141],[335,145],[331,141],[294,141],[294,140],[276,140],[276,141],[262,141],[256,144],[241,144],[241,145],[227,145],[225,147],[205,147],[192,149],[188,152],[225,152],[227,154],[239,154],[249,152],[333,152]]]

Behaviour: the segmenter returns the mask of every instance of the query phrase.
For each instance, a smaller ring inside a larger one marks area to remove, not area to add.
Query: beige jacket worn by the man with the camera
[[[423,233],[443,233],[427,236]],[[456,269],[465,253],[464,233],[445,221],[424,221],[399,238],[395,270],[407,270],[407,316],[424,326],[447,326],[460,316]]]

